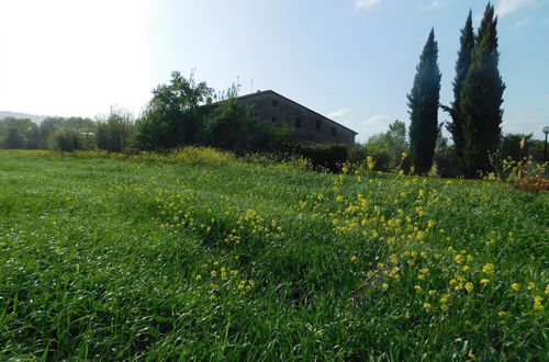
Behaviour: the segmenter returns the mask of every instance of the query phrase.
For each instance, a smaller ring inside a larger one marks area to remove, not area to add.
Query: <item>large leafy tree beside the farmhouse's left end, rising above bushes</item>
[[[179,71],[171,73],[169,84],[153,91],[143,118],[137,123],[136,146],[142,149],[168,149],[199,142],[208,108],[200,106],[213,90],[197,83]]]

